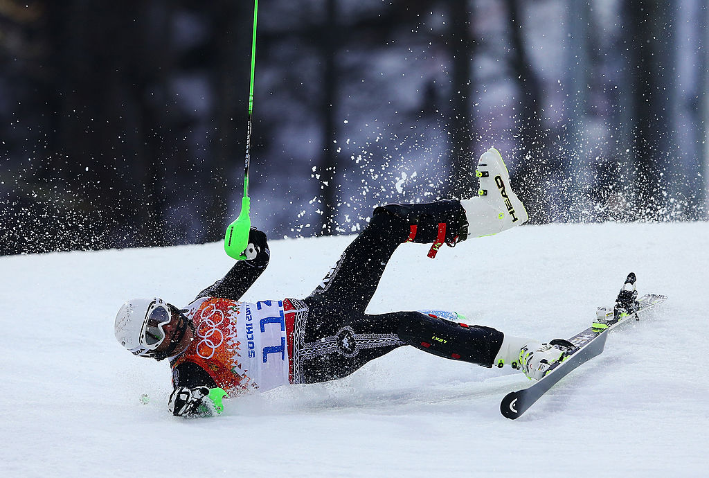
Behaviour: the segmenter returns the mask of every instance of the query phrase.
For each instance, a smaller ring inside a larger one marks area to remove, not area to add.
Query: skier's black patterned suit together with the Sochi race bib
[[[376,209],[305,299],[239,301],[267,267],[270,252],[266,247],[255,259],[237,262],[185,307],[196,338],[170,361],[174,387],[221,387],[234,396],[325,382],[401,345],[491,367],[503,338],[498,330],[450,320],[456,317],[451,312],[364,313],[398,245],[434,243],[435,255],[444,240],[459,240],[450,232],[461,230],[457,208],[458,201],[439,201]]]

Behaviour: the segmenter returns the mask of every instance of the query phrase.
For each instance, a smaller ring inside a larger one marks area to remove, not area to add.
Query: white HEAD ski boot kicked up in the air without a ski
[[[475,175],[478,197],[462,199],[471,237],[492,235],[527,222],[529,215],[510,187],[510,173],[500,152],[490,148],[481,155]]]

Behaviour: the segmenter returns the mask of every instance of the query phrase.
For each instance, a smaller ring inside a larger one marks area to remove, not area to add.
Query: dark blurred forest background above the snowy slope
[[[262,0],[252,223],[475,194],[706,219],[708,1]],[[0,253],[203,243],[239,213],[253,4],[0,0]]]

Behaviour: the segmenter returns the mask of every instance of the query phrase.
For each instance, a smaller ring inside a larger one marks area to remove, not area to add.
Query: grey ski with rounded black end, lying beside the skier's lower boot
[[[559,380],[566,377],[569,372],[588,362],[596,355],[600,355],[605,347],[605,339],[608,332],[623,323],[632,321],[632,318],[640,320],[638,314],[664,302],[667,297],[658,294],[645,294],[637,299],[635,290],[635,274],[628,274],[615,301],[613,309],[599,308],[596,313],[596,321],[591,327],[586,328],[573,337],[569,342],[574,345],[566,352],[562,362],[554,364],[547,374],[538,382],[526,389],[512,391],[502,399],[500,411],[503,416],[515,420],[522,416],[530,406],[535,404],[549,389],[554,387]],[[565,342],[561,340],[560,342]]]

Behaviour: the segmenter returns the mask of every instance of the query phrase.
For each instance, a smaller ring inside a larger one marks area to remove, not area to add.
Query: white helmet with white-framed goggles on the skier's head
[[[155,352],[165,339],[163,327],[177,316],[181,323],[172,338],[172,346],[162,353]],[[123,304],[116,314],[114,332],[116,340],[133,355],[162,360],[174,354],[186,328],[190,325],[191,321],[180,313],[177,307],[153,297],[132,299]]]

